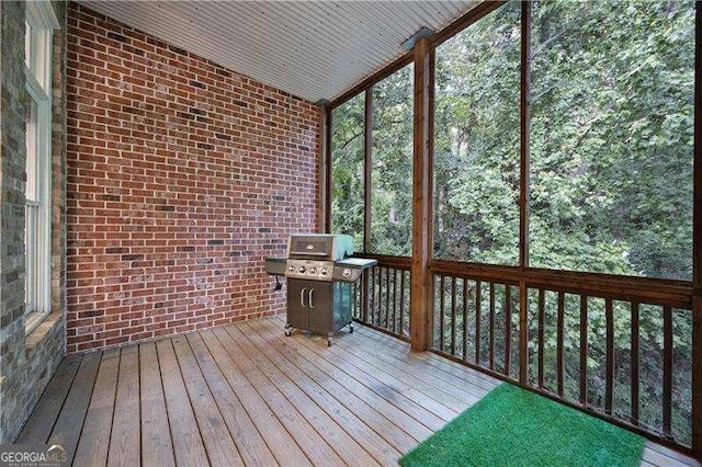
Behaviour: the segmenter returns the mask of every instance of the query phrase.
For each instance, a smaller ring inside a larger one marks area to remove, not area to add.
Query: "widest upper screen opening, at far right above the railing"
[[[532,3],[530,265],[692,275],[694,2]]]

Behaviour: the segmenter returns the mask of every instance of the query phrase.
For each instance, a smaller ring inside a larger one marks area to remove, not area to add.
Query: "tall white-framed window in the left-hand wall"
[[[52,35],[58,21],[49,2],[27,2],[24,37],[26,75],[25,329],[50,311],[52,227]]]

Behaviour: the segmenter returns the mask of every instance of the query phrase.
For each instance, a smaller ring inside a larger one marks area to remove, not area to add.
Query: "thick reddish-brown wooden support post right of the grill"
[[[412,178],[412,263],[410,291],[411,348],[429,348],[432,319],[431,180],[433,130],[433,49],[428,38],[415,45],[415,139]]]

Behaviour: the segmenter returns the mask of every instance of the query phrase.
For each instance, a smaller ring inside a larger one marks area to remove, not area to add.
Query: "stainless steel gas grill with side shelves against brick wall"
[[[287,240],[285,258],[267,258],[265,271],[287,278],[287,322],[291,329],[327,335],[349,326],[353,332],[351,309],[352,284],[375,260],[349,258],[353,238],[348,235],[303,234]]]

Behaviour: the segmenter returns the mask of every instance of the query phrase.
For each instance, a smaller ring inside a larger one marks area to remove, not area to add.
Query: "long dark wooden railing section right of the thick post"
[[[692,306],[682,284],[506,271],[435,262],[433,351],[689,452]]]

